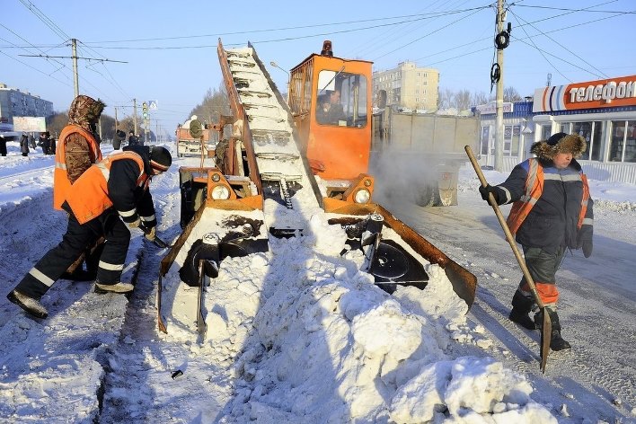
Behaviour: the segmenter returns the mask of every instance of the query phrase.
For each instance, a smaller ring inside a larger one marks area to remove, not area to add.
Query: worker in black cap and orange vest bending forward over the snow
[[[95,292],[128,293],[133,285],[120,281],[128,253],[131,228],[140,227],[155,239],[155,206],[148,190],[153,176],[168,170],[170,152],[161,146],[139,146],[135,151],[110,155],[93,164],[73,184],[62,208],[68,227],[62,242],[47,252],[7,296],[37,318],[48,311],[40,298],[60,278],[86,246],[97,237],[106,239],[99,260]]]

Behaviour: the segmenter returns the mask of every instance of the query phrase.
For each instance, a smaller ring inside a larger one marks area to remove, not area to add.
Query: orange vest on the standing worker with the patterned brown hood
[[[68,181],[68,172],[66,171],[66,137],[74,133],[78,133],[88,141],[88,155],[91,163],[102,160],[102,150],[93,134],[77,125],[67,125],[62,129],[62,133],[57,138],[57,140],[61,140],[61,143],[56,146],[55,171],[53,172],[53,208],[57,210],[62,210],[66,192],[71,188],[71,181]]]

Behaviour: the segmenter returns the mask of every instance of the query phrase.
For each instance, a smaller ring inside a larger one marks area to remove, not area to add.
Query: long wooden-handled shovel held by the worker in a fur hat
[[[471,146],[465,146],[464,150],[466,151],[468,158],[471,160],[471,163],[473,164],[473,168],[475,172],[477,173],[477,176],[479,177],[481,186],[486,187],[488,185],[488,181],[486,181],[486,179],[483,176],[483,172],[481,172],[480,165],[479,163],[477,163],[477,160],[475,159],[475,156],[473,155],[473,150],[471,149]],[[497,215],[497,219],[499,219],[499,225],[501,225],[501,228],[504,230],[504,233],[506,234],[506,240],[508,240],[508,243],[510,244],[510,247],[512,248],[512,252],[515,253],[515,257],[517,258],[519,267],[521,268],[521,271],[524,273],[524,277],[526,278],[526,283],[528,283],[528,286],[530,286],[530,291],[532,292],[534,296],[534,301],[536,302],[536,305],[539,306],[539,309],[541,309],[541,313],[543,314],[543,327],[541,331],[540,354],[541,354],[541,371],[543,372],[543,374],[545,374],[545,364],[548,362],[548,353],[550,353],[550,337],[552,334],[552,321],[550,321],[550,314],[548,314],[547,311],[545,311],[545,305],[543,305],[543,302],[541,301],[541,297],[539,296],[539,293],[536,291],[536,286],[534,286],[534,280],[530,276],[530,271],[528,271],[528,268],[526,267],[526,261],[524,261],[524,259],[521,257],[521,253],[519,252],[517,243],[515,242],[515,239],[510,233],[508,224],[506,224],[506,218],[504,218],[504,216],[501,214],[499,205],[497,205],[497,201],[495,201],[495,198],[494,196],[492,196],[492,193],[490,193],[488,201],[490,203],[490,206],[494,209],[495,215]]]

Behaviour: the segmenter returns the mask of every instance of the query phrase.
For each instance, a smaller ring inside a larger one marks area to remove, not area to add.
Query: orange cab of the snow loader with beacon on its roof
[[[371,65],[334,57],[325,41],[290,74],[289,107],[314,174],[352,180],[368,172]]]

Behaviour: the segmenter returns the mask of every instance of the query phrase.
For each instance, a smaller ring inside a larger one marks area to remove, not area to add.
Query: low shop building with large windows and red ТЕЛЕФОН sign
[[[496,110],[481,116],[480,163],[494,165]],[[530,154],[530,146],[557,132],[578,133],[587,141],[579,159],[587,177],[636,184],[636,75],[538,88],[526,102],[504,108],[502,171],[510,172]]]

